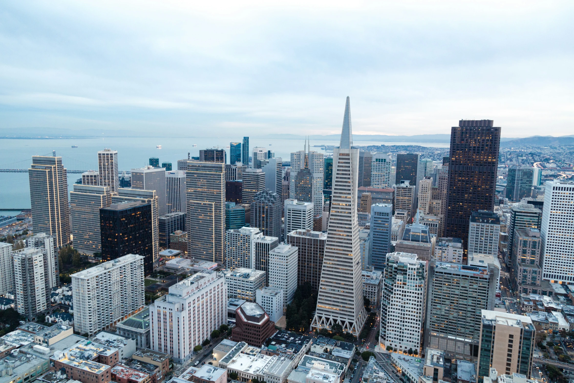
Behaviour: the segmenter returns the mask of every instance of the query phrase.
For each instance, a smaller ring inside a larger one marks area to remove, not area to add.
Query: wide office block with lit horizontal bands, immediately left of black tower
[[[73,185],[70,192],[70,219],[74,249],[87,254],[102,252],[100,208],[110,204],[109,187]]]

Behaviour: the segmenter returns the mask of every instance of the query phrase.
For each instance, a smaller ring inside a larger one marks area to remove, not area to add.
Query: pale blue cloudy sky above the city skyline
[[[2,2],[0,128],[574,129],[572,1]]]

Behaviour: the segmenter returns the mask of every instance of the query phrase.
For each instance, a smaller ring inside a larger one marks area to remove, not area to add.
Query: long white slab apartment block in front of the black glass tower
[[[80,334],[113,326],[145,305],[142,256],[127,254],[71,277],[74,330]]]

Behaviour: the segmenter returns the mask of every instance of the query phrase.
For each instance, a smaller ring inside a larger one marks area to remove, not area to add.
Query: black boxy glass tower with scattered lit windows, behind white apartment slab
[[[144,258],[146,275],[153,272],[152,204],[123,202],[100,209],[102,260],[127,254]]]

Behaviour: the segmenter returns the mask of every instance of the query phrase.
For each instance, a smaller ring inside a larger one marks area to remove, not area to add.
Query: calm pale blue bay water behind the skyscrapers
[[[28,169],[32,156],[52,155],[62,157],[64,167],[69,170],[97,170],[98,150],[111,148],[118,150],[118,165],[120,173],[132,168],[148,165],[149,157],[160,158],[162,162],[170,162],[177,168],[177,160],[191,156],[199,156],[199,150],[219,146],[226,148],[230,142],[241,142],[243,137],[217,138],[89,138],[85,140],[2,140],[0,139],[0,169]],[[193,146],[196,144],[197,146]],[[311,141],[311,145],[339,145],[339,141]],[[448,148],[449,144],[420,143],[420,142],[373,142],[355,141],[354,145],[420,145],[427,147]],[[77,145],[77,148],[72,148]],[[156,146],[161,145],[161,149]],[[263,146],[275,152],[276,157],[289,160],[290,153],[302,150],[303,140],[273,140],[267,138],[250,138],[249,147]],[[313,148],[312,148],[313,149]],[[320,148],[314,148],[324,152]],[[68,190],[80,174],[68,175]],[[30,208],[30,190],[28,173],[0,173],[0,215],[15,215],[18,212],[3,211],[3,208]]]

